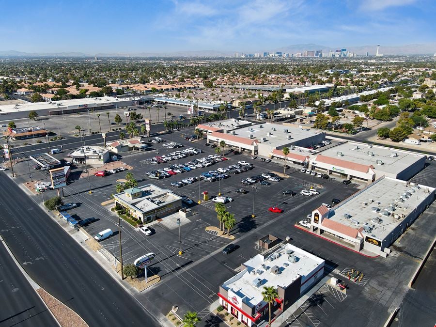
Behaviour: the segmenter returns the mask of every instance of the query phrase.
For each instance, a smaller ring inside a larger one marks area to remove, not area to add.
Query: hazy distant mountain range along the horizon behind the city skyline
[[[324,53],[328,53],[330,50],[336,50],[340,48],[346,48],[350,52],[354,52],[358,55],[365,55],[368,51],[370,55],[374,55],[377,46],[367,45],[359,47],[326,47],[317,44],[296,44],[286,47],[279,47],[274,50],[258,50],[255,52],[243,52],[243,51],[219,51],[219,50],[199,50],[199,51],[175,51],[175,52],[140,52],[140,53],[96,53],[87,54],[82,52],[21,52],[15,50],[0,51],[0,57],[63,57],[63,58],[92,58],[92,57],[115,57],[115,58],[127,58],[127,57],[140,57],[140,58],[150,58],[150,57],[226,57],[233,56],[235,52],[241,53],[261,53],[265,51],[275,52],[281,51],[283,53],[298,53],[305,50],[322,50]],[[436,53],[436,43],[425,43],[425,44],[408,44],[403,46],[390,46],[385,47],[380,46],[380,53],[383,55],[433,55]]]

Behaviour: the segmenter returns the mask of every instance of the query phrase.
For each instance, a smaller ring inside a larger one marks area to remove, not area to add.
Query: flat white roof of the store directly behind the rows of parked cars
[[[298,128],[271,123],[262,123],[260,125],[243,127],[232,131],[232,133],[233,132],[236,136],[246,139],[257,139],[261,141],[260,144],[266,144],[273,147],[277,147],[282,144],[295,143],[299,140],[304,140],[318,134],[323,134],[322,132],[316,132],[309,128]],[[263,141],[262,138],[265,138],[265,140]]]

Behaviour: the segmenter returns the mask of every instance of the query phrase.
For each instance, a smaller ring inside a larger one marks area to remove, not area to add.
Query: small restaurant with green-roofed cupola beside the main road
[[[123,207],[142,223],[171,215],[182,208],[182,198],[169,189],[147,184],[113,195],[115,204]]]

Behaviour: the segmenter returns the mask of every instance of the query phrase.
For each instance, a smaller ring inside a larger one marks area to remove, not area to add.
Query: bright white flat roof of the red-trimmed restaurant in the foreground
[[[296,257],[295,262],[290,260],[292,255]],[[264,286],[276,288],[280,285],[287,287],[298,276],[307,276],[323,263],[323,259],[291,244],[285,244],[267,257],[258,254],[251,258],[243,264],[247,269],[226,281],[222,287],[232,289],[234,293],[242,298],[245,296],[243,301],[253,307],[263,300],[262,291]],[[272,272],[275,266],[279,267],[279,273]],[[258,280],[262,280],[260,284]],[[259,286],[256,286],[256,284]]]

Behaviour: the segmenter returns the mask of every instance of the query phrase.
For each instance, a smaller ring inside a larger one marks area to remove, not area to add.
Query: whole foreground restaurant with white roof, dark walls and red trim
[[[219,304],[246,326],[268,322],[264,287],[274,287],[279,296],[271,304],[277,318],[323,277],[325,261],[291,244],[279,244],[245,262],[241,272],[219,286]]]

